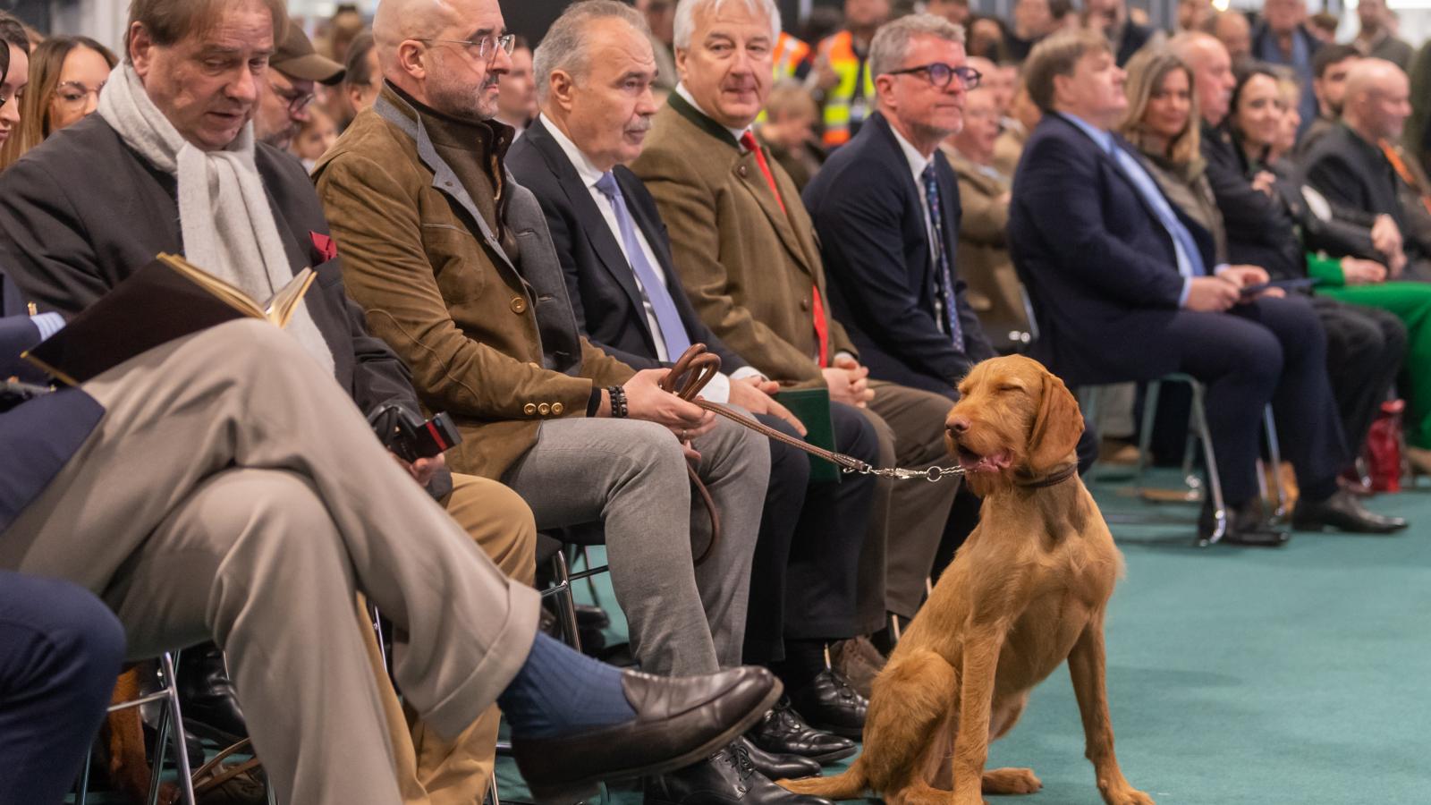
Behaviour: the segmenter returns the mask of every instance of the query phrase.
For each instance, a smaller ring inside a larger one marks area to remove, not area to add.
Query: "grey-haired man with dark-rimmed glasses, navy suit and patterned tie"
[[[870,377],[944,395],[995,355],[954,271],[959,182],[939,150],[979,82],[964,62],[963,32],[943,17],[881,27],[870,46],[879,112],[803,193],[830,304]]]

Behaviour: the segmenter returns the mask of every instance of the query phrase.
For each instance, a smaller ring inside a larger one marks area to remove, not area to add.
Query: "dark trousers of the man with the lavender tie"
[[[874,425],[849,405],[830,405],[840,453],[879,460]],[[797,435],[778,417],[757,417]],[[841,476],[840,483],[810,483],[811,457],[770,441],[770,488],[750,572],[744,662],[784,659],[784,640],[853,637],[860,549],[870,521],[873,476]]]

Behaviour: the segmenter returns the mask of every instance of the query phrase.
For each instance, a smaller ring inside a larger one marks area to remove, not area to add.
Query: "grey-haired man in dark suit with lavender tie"
[[[625,166],[641,153],[658,109],[651,93],[657,67],[637,13],[615,3],[577,6],[552,26],[535,59],[541,115],[511,148],[507,165],[541,202],[578,327],[592,344],[641,370],[667,367],[690,344],[705,344],[723,368],[707,398],[750,410],[794,438],[804,435],[801,423],[771,397],[778,384],[701,322],[674,271],[655,202]],[[876,463],[874,425],[853,407],[830,408],[839,450]],[[883,596],[857,602],[856,580],[871,498],[876,490],[887,498],[889,487],[869,476],[811,484],[810,458],[774,440],[770,464],[743,659],[776,669],[798,695],[831,673],[826,643],[883,626]],[[876,539],[883,544],[884,534]],[[833,720],[836,713],[829,715]],[[856,715],[849,713],[850,732]],[[814,729],[777,732],[773,720],[753,731],[754,746],[747,743],[766,776],[819,772],[819,763],[781,755],[833,761],[854,752],[846,738]]]

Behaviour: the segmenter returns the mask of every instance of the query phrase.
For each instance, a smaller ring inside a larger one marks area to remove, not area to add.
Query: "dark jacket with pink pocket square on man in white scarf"
[[[333,354],[338,382],[363,411],[418,410],[402,361],[368,334],[343,294],[338,259],[313,235],[328,222],[302,165],[258,146],[259,175],[293,271],[315,266],[305,304]],[[0,175],[0,266],[26,299],[73,315],[159,252],[183,252],[177,183],[140,158],[99,115],[57,132]]]

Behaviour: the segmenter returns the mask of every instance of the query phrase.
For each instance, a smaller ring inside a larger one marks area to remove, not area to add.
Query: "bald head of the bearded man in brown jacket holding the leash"
[[[464,120],[497,113],[512,59],[497,0],[382,0],[372,21],[382,76],[418,102]]]

